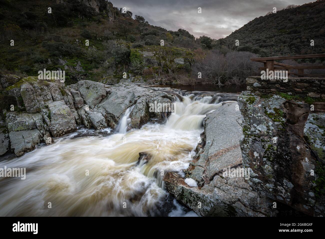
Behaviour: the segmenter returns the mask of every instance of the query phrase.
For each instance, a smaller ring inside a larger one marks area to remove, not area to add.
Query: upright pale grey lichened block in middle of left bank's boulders
[[[75,118],[70,108],[63,101],[54,101],[48,105],[51,116],[50,131],[53,137],[77,130]]]

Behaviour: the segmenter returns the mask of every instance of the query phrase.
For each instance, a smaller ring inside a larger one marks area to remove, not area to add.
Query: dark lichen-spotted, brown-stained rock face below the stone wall
[[[322,131],[312,122],[322,121],[319,113],[325,111],[325,104],[314,104],[315,113],[311,114],[309,104],[279,95],[263,99],[247,91],[238,97],[243,116],[242,162],[250,169],[250,186],[273,200],[318,216],[324,215],[324,200],[315,197],[319,175],[312,171],[322,171],[324,166],[313,145],[321,145]]]

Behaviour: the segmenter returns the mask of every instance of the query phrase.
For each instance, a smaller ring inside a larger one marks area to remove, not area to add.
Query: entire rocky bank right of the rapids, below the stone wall
[[[201,216],[324,216],[325,103],[292,98],[245,91],[208,114],[185,177],[168,173],[166,189]],[[229,167],[250,177],[225,177]]]

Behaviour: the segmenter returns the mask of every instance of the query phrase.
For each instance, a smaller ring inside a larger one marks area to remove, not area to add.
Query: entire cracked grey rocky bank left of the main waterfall
[[[149,112],[150,102],[173,99],[171,94],[128,83],[110,86],[79,81],[65,87],[59,80],[37,77],[3,75],[0,80],[3,94],[15,99],[0,121],[0,156],[10,150],[21,156],[39,143],[51,144],[53,138],[76,131],[77,125],[115,129],[132,105],[131,126],[139,128],[151,118],[166,117]]]

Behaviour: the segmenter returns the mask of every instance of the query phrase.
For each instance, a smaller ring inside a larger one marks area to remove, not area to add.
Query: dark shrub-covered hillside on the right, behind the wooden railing
[[[220,42],[235,42],[238,51],[286,56],[325,52],[325,1],[288,6],[277,13],[253,19]],[[310,45],[314,40],[314,46]],[[234,47],[235,48],[235,47]]]

